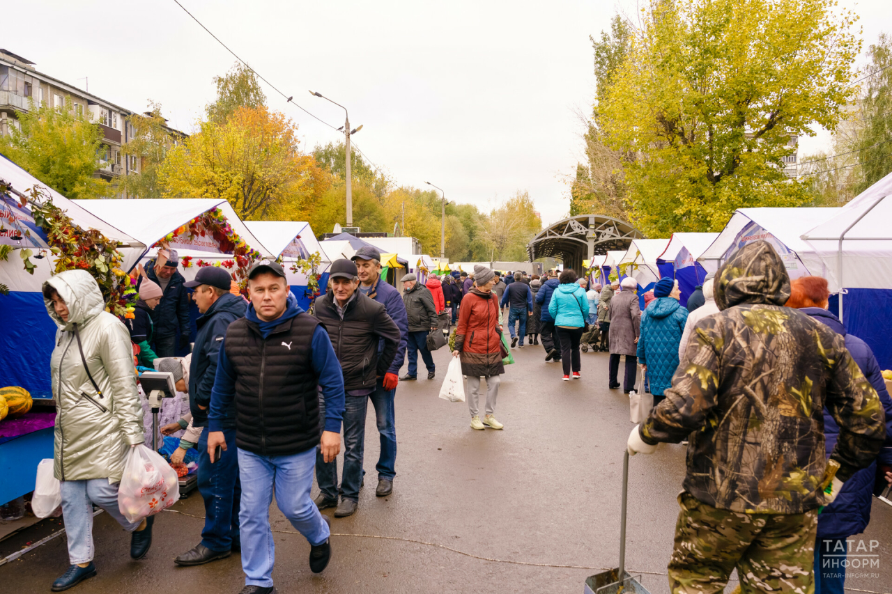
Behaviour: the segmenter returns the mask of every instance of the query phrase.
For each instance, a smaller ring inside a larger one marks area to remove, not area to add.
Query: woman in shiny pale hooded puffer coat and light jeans
[[[145,557],[152,520],[130,523],[118,508],[118,486],[128,448],[144,441],[130,336],[105,311],[103,294],[86,270],[67,270],[43,285],[53,318],[50,360],[56,403],[54,474],[61,483],[70,567],[53,583],[68,590],[96,574],[93,504],[132,532],[130,556]]]

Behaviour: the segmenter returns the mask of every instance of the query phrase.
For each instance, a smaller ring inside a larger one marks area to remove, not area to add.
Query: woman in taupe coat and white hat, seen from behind
[[[620,283],[622,291],[610,300],[610,362],[608,387],[615,390],[620,386],[619,359],[625,356],[625,376],[623,392],[629,393],[635,388],[635,377],[638,375],[638,334],[641,309],[635,289],[638,283],[631,276],[626,276]]]

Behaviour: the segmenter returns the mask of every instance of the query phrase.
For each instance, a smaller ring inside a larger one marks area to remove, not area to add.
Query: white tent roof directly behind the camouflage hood
[[[838,208],[739,209],[697,259],[707,272],[715,272],[731,253],[747,243],[764,239],[784,260],[791,278],[827,276],[827,269],[814,249],[800,235],[838,214]]]

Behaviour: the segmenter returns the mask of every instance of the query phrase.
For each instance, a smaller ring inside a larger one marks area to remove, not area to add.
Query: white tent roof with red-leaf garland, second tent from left
[[[271,257],[270,252],[238,218],[232,206],[225,200],[215,198],[169,198],[157,200],[77,200],[79,206],[114,225],[128,230],[140,242],[145,243],[145,252],[158,240],[174,229],[185,225],[208,210],[218,208],[223,212],[229,227],[244,243],[261,256]],[[210,237],[178,236],[170,247],[179,251],[221,253],[219,245]],[[134,262],[136,264],[136,262]],[[130,266],[132,268],[132,265]],[[128,270],[130,268],[127,268]]]

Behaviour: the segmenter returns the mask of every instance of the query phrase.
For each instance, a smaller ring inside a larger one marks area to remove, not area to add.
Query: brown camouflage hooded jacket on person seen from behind
[[[688,439],[683,487],[734,512],[803,514],[823,493],[823,411],[839,425],[830,458],[845,482],[869,466],[886,429],[877,392],[830,327],[789,298],[783,261],[765,241],[748,243],[719,269],[715,303],[673,375],[641,439]]]

